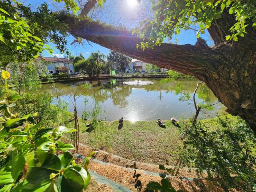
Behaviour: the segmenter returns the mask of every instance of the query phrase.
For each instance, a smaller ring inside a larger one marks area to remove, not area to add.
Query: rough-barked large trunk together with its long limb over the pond
[[[74,37],[82,37],[146,63],[193,75],[213,91],[232,115],[245,119],[256,133],[256,34],[238,42],[223,42],[216,27],[209,29],[218,46],[209,48],[199,39],[192,45],[162,44],[144,51],[142,41],[130,31],[102,26],[97,22],[73,16],[59,18]],[[220,19],[219,19],[220,20]],[[227,27],[228,28],[228,27]]]

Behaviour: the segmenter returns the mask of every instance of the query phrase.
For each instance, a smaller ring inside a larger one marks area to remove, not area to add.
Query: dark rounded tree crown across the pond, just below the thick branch
[[[108,64],[111,65],[110,69],[114,67],[115,69],[119,69],[121,73],[124,73],[125,70],[129,68],[129,64],[131,63],[130,57],[115,51],[110,51],[107,59]]]

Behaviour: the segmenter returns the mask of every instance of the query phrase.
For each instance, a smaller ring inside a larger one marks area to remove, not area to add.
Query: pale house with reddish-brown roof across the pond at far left
[[[38,72],[43,73],[46,71],[48,73],[74,73],[73,61],[67,58],[58,57],[43,57],[38,56],[37,62],[41,63],[38,66],[42,66],[42,63],[46,63],[46,67],[38,67]]]

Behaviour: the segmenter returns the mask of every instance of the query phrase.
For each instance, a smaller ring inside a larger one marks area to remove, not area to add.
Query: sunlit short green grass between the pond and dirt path
[[[236,121],[229,115],[229,119]],[[218,127],[216,119],[201,120],[210,129]],[[124,121],[123,127],[119,122],[102,121],[99,123],[102,132],[86,132],[89,121],[80,120],[80,143],[119,155],[133,161],[153,164],[174,164],[177,155],[183,147],[180,128],[175,127],[170,120],[165,120],[165,127],[158,126],[156,121]],[[180,123],[182,124],[182,123]],[[99,128],[98,128],[99,129]]]

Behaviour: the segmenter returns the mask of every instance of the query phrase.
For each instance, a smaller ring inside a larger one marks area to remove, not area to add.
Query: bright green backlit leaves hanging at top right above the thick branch
[[[200,27],[199,37],[211,25],[218,25],[216,20],[222,19],[224,14],[234,17],[229,34],[225,34],[226,40],[238,41],[238,37],[244,37],[249,28],[256,27],[255,0],[152,0],[152,3],[154,19],[144,20],[133,31],[148,39],[137,45],[142,49],[161,45],[166,38],[194,26]]]

